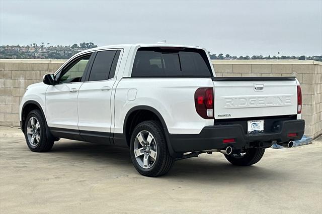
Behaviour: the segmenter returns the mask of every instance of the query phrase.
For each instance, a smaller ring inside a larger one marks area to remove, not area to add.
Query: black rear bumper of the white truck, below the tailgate
[[[276,121],[270,132],[247,134],[239,124],[206,126],[200,134],[169,134],[170,144],[177,153],[224,149],[228,145],[233,149],[250,148],[257,142],[277,143],[299,140],[304,134],[304,120]],[[289,133],[296,133],[288,137]],[[223,143],[223,139],[234,139],[233,143]],[[262,146],[265,147],[265,146]]]

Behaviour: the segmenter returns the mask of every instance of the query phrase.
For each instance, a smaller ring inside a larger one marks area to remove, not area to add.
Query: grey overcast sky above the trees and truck
[[[0,45],[155,43],[230,55],[321,55],[317,1],[4,1]]]

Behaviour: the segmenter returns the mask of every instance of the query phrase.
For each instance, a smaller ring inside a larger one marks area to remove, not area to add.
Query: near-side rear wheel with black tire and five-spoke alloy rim
[[[163,129],[155,121],[144,121],[135,127],[130,156],[135,169],[149,177],[166,174],[175,161],[170,156]]]

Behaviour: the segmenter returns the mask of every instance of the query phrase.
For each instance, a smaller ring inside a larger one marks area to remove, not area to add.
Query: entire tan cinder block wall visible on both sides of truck
[[[65,60],[0,59],[0,126],[19,126],[26,87],[55,72]],[[300,60],[212,60],[217,76],[296,76],[303,93],[305,134],[322,134],[322,63]]]

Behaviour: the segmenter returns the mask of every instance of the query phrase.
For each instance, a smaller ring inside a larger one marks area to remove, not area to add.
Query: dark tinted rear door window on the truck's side
[[[120,50],[97,52],[89,81],[100,81],[113,78],[119,55]]]

